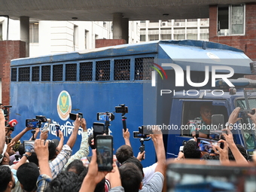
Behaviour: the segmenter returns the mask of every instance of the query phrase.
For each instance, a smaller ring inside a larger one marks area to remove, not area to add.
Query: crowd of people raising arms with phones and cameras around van
[[[208,118],[209,107],[202,109],[202,118]],[[230,114],[228,122],[236,123],[239,120],[240,108],[235,108]],[[205,115],[207,114],[207,115]],[[206,116],[206,117],[205,117]],[[256,114],[248,114],[253,123],[256,123]],[[83,128],[81,147],[72,155],[72,148],[77,141],[78,129]],[[35,152],[24,150],[23,144],[16,149],[15,145],[22,136],[32,128],[26,127],[17,136],[10,138],[10,131],[5,127],[5,117],[0,111],[0,192],[4,191],[46,191],[46,192],[75,192],[75,191],[162,191],[166,172],[166,152],[163,145],[163,134],[158,126],[155,126],[151,140],[157,162],[151,166],[143,167],[141,160],[145,158],[145,151],[139,152],[134,157],[130,144],[129,129],[123,131],[124,145],[117,148],[111,171],[99,171],[97,164],[96,147],[93,136],[87,134],[87,123],[84,118],[78,117],[74,123],[74,130],[69,140],[64,144],[64,136],[59,130],[59,139],[48,140],[47,131],[35,129]],[[40,134],[40,136],[38,136]],[[197,149],[197,134],[191,131],[193,136],[184,144],[175,161],[183,159],[220,160],[227,163],[235,160],[236,163],[246,164],[249,155],[242,145],[236,145],[229,125],[223,132],[224,148],[213,145],[215,153],[203,153]],[[8,136],[8,137],[7,137]],[[36,139],[39,137],[40,139]],[[92,156],[89,156],[90,150]],[[254,155],[256,164],[256,154]],[[251,160],[252,161],[252,160]]]

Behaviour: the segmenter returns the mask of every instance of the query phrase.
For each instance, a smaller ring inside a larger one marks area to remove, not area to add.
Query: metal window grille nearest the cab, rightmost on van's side
[[[151,80],[154,57],[142,57],[135,59],[135,80]]]

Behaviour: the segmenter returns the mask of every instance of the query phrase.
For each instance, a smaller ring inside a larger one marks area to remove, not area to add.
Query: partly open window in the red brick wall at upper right
[[[218,7],[218,35],[245,34],[245,5]]]

